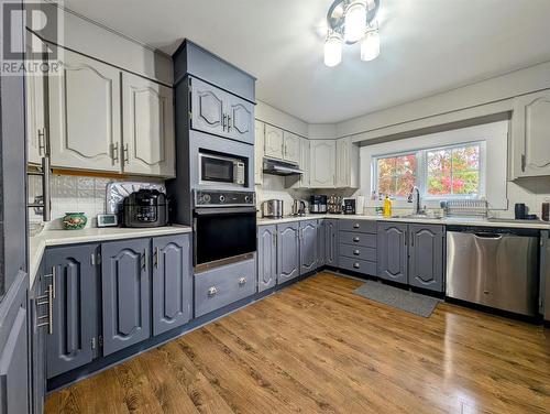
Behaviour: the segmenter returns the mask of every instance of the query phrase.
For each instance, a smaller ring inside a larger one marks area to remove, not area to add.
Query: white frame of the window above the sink
[[[449,194],[449,195],[430,195],[428,194],[428,152],[431,151],[448,151],[453,149],[460,149],[465,146],[479,146],[480,148],[480,192],[476,196],[463,195],[463,194]],[[443,199],[483,199],[486,197],[485,192],[485,148],[486,141],[470,141],[470,142],[461,142],[458,144],[450,145],[438,145],[438,146],[428,146],[409,151],[399,151],[399,152],[391,152],[384,154],[377,154],[372,156],[372,165],[371,165],[371,193],[376,189],[376,194],[378,193],[378,160],[381,159],[391,159],[395,156],[404,156],[415,154],[417,161],[417,171],[416,171],[416,181],[417,187],[420,190],[420,195],[422,199],[427,200],[443,200]],[[406,200],[407,197],[395,197],[396,200]]]

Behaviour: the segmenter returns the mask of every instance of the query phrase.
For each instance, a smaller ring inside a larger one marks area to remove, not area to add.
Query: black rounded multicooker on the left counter
[[[141,188],[124,198],[122,204],[124,227],[163,227],[168,224],[166,194],[157,189]]]

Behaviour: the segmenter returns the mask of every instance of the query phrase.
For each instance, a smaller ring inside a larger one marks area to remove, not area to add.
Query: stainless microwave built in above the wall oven
[[[244,187],[246,163],[242,159],[199,151],[199,184]]]

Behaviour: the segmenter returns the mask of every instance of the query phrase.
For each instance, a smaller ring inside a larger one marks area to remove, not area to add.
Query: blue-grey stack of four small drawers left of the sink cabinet
[[[376,275],[376,221],[340,220],[340,268]]]

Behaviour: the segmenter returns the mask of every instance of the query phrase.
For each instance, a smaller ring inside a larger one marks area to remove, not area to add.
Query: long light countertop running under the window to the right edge
[[[549,230],[550,222],[532,220],[515,221],[503,219],[485,219],[485,218],[464,218],[464,217],[443,217],[443,218],[415,218],[415,217],[382,217],[382,216],[363,216],[363,215],[306,215],[306,216],[288,216],[282,218],[258,218],[257,225],[277,225],[293,221],[315,220],[319,218],[333,218],[339,220],[375,220],[375,221],[395,221],[395,222],[418,222],[426,225],[444,225],[444,226],[482,226],[482,227],[499,227],[499,228],[516,228],[516,229],[540,229]]]

